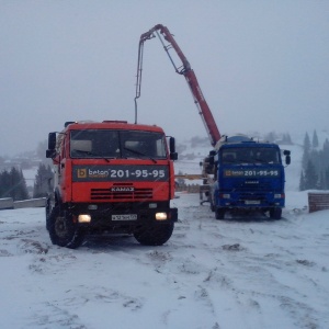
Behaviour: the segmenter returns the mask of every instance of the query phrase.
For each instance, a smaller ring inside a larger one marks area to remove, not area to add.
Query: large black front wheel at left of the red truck
[[[53,245],[75,249],[81,246],[84,234],[72,222],[69,212],[55,206],[49,215],[49,237]]]

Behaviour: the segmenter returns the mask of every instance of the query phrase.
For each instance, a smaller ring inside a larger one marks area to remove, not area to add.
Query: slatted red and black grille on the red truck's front
[[[90,198],[99,201],[131,200],[140,201],[152,198],[152,189],[134,189],[134,191],[111,191],[111,189],[91,189]]]

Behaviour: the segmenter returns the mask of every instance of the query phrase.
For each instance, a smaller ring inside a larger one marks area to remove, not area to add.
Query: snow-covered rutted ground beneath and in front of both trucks
[[[44,209],[0,212],[1,328],[329,328],[329,211],[216,220],[173,201],[162,247],[133,237],[52,246]]]

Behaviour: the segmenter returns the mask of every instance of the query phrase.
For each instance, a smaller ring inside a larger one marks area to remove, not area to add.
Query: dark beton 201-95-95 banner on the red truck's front
[[[73,182],[167,181],[166,166],[75,166]]]

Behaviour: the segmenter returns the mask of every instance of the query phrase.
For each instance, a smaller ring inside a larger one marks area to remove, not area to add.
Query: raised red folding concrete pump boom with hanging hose
[[[169,43],[168,45],[164,45],[164,42],[162,37]],[[140,97],[140,86],[141,86],[141,71],[143,71],[143,50],[144,50],[144,43],[147,39],[150,39],[152,37],[156,37],[156,35],[159,37],[167,55],[169,56],[169,59],[171,64],[174,67],[174,70],[179,75],[183,75],[188,81],[188,84],[190,87],[190,90],[192,92],[194,103],[196,104],[198,114],[202,117],[202,121],[205,125],[206,132],[208,134],[208,137],[211,139],[211,144],[215,146],[215,144],[220,139],[220,134],[217,128],[216,122],[213,117],[212,111],[206,102],[206,100],[203,97],[203,93],[201,91],[201,88],[198,86],[196,76],[191,68],[191,65],[184,54],[182,53],[181,48],[174,41],[172,34],[170,34],[169,30],[161,25],[158,24],[154,26],[151,30],[148,32],[141,34],[140,39],[139,39],[139,48],[138,48],[138,65],[137,65],[137,83],[136,83],[136,97],[135,97],[135,122],[137,122],[137,102],[136,100]],[[172,57],[170,56],[169,49],[173,48],[179,56],[179,58],[182,61],[182,66],[177,67]]]

